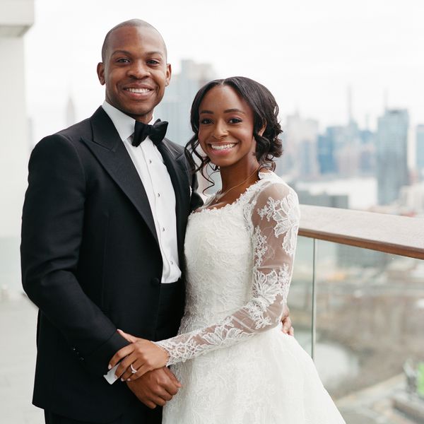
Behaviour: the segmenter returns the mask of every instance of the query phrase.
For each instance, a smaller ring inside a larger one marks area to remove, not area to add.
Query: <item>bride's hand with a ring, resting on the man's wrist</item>
[[[110,360],[110,368],[119,363],[115,371],[117,378],[120,377],[122,381],[132,381],[146,372],[165,367],[169,358],[167,351],[144,338],[131,336],[122,330],[118,331],[131,344],[117,351]]]

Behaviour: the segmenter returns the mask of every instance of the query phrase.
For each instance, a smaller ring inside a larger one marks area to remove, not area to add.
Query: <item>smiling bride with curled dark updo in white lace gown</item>
[[[310,356],[279,328],[299,208],[272,172],[277,117],[273,95],[249,78],[211,81],[194,98],[188,151],[201,170],[219,167],[223,188],[189,217],[179,334],[153,343],[122,333],[132,343],[111,363],[126,356],[124,379],[172,365],[182,388],[163,423],[344,423]]]

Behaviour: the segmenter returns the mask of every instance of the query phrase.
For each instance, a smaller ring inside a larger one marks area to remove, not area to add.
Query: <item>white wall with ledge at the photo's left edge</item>
[[[33,0],[0,0],[0,239],[20,233],[30,152],[23,33],[33,18]]]

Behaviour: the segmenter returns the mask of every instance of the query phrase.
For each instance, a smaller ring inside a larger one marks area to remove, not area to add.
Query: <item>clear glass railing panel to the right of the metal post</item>
[[[396,417],[424,410],[424,262],[317,240],[315,279],[314,360],[346,422],[423,423]]]

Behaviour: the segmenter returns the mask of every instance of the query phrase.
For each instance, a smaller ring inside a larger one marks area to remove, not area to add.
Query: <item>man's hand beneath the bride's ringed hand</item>
[[[158,405],[164,406],[182,387],[167,367],[147,372],[140,378],[126,382],[126,384],[139,401],[151,409]]]

